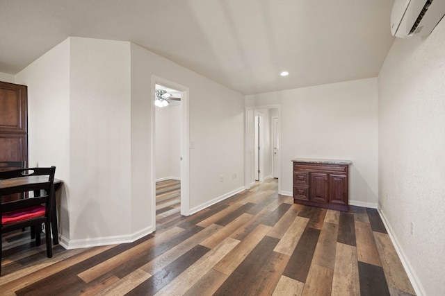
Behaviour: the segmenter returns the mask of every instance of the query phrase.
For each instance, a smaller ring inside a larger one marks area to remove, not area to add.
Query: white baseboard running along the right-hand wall
[[[394,245],[394,248],[396,249],[398,258],[401,259],[403,268],[405,268],[405,272],[411,281],[412,288],[414,288],[416,295],[417,296],[426,295],[425,289],[423,288],[419,277],[417,277],[416,272],[415,272],[414,268],[412,267],[410,260],[408,260],[408,257],[406,256],[405,252],[403,252],[401,244],[398,243],[397,237],[394,235],[394,231],[391,228],[391,225],[389,225],[388,220],[385,217],[385,214],[382,212],[381,209],[377,209],[377,211],[378,211],[378,214],[380,214],[380,218],[382,218],[383,224],[385,225],[385,227],[387,229],[389,238],[391,238],[391,242]]]

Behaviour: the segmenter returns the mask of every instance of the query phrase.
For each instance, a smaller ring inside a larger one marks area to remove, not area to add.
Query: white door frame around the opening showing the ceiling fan
[[[172,82],[165,78],[159,76],[152,76],[152,94],[151,106],[152,106],[152,147],[151,147],[151,173],[152,180],[150,180],[152,185],[152,228],[153,231],[156,230],[156,108],[154,107],[154,101],[156,100],[155,89],[156,85],[163,85],[170,89],[175,89],[181,92],[181,215],[190,215],[190,151],[188,149],[188,139],[189,139],[189,96],[190,89],[184,85],[179,85],[176,82]]]

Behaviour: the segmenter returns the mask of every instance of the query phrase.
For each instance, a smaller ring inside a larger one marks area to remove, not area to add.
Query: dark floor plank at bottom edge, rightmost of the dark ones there
[[[390,296],[385,274],[380,266],[358,261],[360,295],[362,296]]]

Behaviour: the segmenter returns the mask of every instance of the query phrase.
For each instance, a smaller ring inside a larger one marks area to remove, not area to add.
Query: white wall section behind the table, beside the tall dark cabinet
[[[69,237],[70,40],[17,73],[15,81],[28,86],[29,166],[56,166],[56,178],[65,182],[58,200],[59,232]]]

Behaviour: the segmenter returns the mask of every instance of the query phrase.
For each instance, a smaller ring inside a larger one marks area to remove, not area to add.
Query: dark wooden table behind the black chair
[[[29,191],[33,191],[34,196],[40,196],[40,190],[33,190],[33,184],[42,183],[42,182],[48,182],[48,177],[45,176],[29,176],[29,177],[19,177],[19,178],[13,178],[13,179],[7,179],[7,180],[1,180],[0,182],[0,188],[10,188],[14,186],[22,186],[22,185],[29,185],[27,186],[27,189]],[[51,209],[51,231],[53,234],[53,243],[54,245],[58,245],[58,228],[57,228],[57,207],[56,207],[56,191],[60,188],[60,185],[63,184],[62,180],[54,179],[54,196],[51,196],[50,198],[53,199],[53,202],[51,202],[53,208]]]

